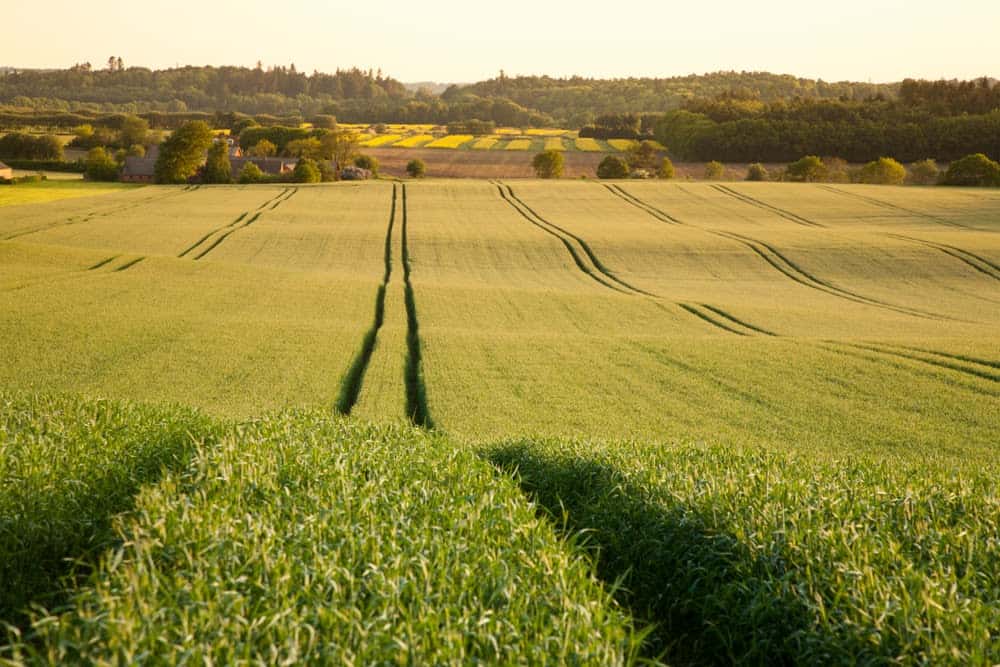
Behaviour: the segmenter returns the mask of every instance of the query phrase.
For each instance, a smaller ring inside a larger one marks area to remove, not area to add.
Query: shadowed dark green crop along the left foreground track
[[[65,428],[86,438],[89,447],[121,446],[117,455],[92,463],[85,458],[87,452],[77,447],[54,461],[36,462],[51,471],[47,476],[14,480],[15,485],[6,489],[2,482],[9,480],[0,479],[4,494],[0,498],[0,657],[5,626],[23,632],[30,627],[32,608],[48,612],[65,608],[75,585],[116,543],[114,519],[135,506],[141,487],[157,482],[168,471],[183,469],[199,446],[220,435],[216,424],[193,414],[148,410],[135,417],[133,429],[126,421],[128,413],[118,417],[114,407],[90,409],[90,413],[80,409],[78,421],[67,418]],[[109,413],[118,421],[104,416]],[[77,460],[82,462],[74,463]]]

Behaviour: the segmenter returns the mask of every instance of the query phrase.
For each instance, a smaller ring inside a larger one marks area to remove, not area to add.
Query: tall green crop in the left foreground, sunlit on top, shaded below
[[[183,466],[209,422],[187,410],[0,393],[0,621],[59,601],[142,484]]]

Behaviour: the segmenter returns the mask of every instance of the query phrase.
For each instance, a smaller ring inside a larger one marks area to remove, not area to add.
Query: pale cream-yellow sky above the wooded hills
[[[48,0],[4,3],[0,66],[358,66],[401,81],[767,70],[1000,77],[1000,0]]]

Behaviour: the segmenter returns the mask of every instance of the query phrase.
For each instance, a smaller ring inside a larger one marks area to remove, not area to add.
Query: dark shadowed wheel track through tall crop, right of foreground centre
[[[615,468],[525,444],[487,452],[564,533],[581,536],[599,578],[652,631],[645,658],[670,664],[836,661],[833,638],[789,595],[780,559],[755,558],[711,516],[655,501]]]

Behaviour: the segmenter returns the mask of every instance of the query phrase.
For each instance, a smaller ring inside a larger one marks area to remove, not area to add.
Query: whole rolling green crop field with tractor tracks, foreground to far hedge
[[[4,657],[1000,661],[1000,192],[86,187],[0,206]]]

